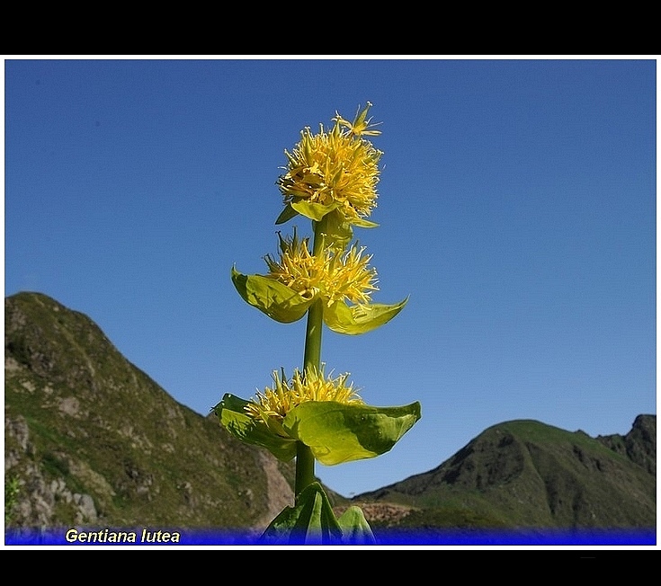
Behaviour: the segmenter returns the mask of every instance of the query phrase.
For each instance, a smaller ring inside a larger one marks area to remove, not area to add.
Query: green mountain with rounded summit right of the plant
[[[639,415],[626,436],[596,439],[531,420],[499,423],[441,466],[353,503],[383,527],[652,528],[656,437],[656,415]]]

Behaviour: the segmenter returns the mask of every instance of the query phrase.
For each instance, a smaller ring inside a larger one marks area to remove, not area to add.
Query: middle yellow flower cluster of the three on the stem
[[[352,303],[368,303],[376,286],[377,272],[368,263],[371,255],[363,256],[364,247],[353,245],[342,252],[327,248],[319,255],[308,250],[308,238],[299,240],[294,230],[291,237],[280,238],[280,260],[270,254],[264,257],[269,268],[268,277],[279,280],[305,299],[317,295],[330,306],[348,299]]]

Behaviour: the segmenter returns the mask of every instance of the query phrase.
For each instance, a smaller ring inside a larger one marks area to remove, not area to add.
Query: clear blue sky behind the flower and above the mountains
[[[513,419],[624,434],[657,410],[656,88],[653,58],[10,58],[5,295],[89,315],[198,413],[254,395],[301,366],[305,324],[247,306],[230,269],[277,253],[300,129],[370,101],[380,227],[355,235],[374,301],[410,300],[375,332],[326,330],[322,360],[423,418],[317,475],[362,493]]]

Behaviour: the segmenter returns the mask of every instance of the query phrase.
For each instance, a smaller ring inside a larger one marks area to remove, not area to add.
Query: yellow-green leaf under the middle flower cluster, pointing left
[[[276,322],[298,321],[314,301],[301,297],[281,282],[262,275],[244,275],[232,267],[232,282],[248,305],[254,306]]]

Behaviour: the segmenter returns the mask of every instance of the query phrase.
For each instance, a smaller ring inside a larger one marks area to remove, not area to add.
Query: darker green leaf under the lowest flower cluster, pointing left
[[[237,439],[267,448],[282,462],[289,462],[296,456],[296,440],[288,437],[275,420],[266,425],[250,417],[244,408],[248,403],[236,395],[226,394],[213,410],[223,427]]]

